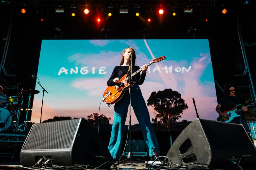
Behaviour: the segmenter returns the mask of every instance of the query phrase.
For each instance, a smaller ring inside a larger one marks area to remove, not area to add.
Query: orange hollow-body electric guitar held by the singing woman
[[[159,62],[165,59],[165,56],[158,57],[149,63],[147,65],[151,65],[154,62]],[[141,72],[142,69],[138,69],[134,73],[132,73],[131,76],[134,76],[135,74]],[[103,101],[108,104],[108,106],[115,104],[118,102],[124,95],[124,92],[129,89],[129,78],[130,76],[127,76],[128,74],[125,74],[120,80],[118,85],[115,86],[108,86],[106,90],[103,93]]]

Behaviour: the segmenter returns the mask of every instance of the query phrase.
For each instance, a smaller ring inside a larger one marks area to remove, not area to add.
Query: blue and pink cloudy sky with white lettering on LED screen
[[[44,95],[42,121],[54,116],[85,118],[99,112],[103,92],[113,68],[120,65],[123,50],[132,47],[136,65],[160,56],[166,59],[149,66],[140,85],[145,103],[152,92],[172,89],[181,94],[188,108],[182,120],[196,118],[192,98],[201,119],[216,120],[216,90],[207,39],[177,40],[42,40],[37,77],[49,92]],[[40,122],[42,88],[34,96],[31,122]],[[150,119],[158,114],[147,106]],[[114,106],[102,103],[100,114],[113,121]],[[129,115],[129,114],[128,114]],[[138,121],[132,112],[132,125]],[[129,124],[127,116],[126,125]]]

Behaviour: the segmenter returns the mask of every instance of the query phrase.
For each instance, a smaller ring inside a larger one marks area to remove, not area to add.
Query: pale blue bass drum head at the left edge
[[[12,115],[5,108],[0,108],[0,131],[6,130],[12,123]]]

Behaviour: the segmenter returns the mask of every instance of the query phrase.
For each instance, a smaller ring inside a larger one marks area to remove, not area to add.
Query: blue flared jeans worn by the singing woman
[[[109,141],[108,149],[113,159],[119,159],[121,154],[123,128],[127,117],[129,106],[129,89],[126,90],[124,96],[114,106],[114,119]],[[140,87],[134,83],[132,87],[132,108],[135,116],[140,124],[140,128],[147,144],[149,156],[154,155],[154,151],[159,155],[159,146],[153,126],[150,122],[149,112],[146,107],[145,100],[142,96]]]

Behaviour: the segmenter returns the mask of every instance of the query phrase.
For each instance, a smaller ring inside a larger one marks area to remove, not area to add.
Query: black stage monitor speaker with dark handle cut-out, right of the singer
[[[242,155],[256,157],[255,146],[242,125],[195,119],[180,133],[166,156],[175,164],[196,160],[223,169],[237,167],[234,163]],[[256,166],[254,158],[243,159],[242,164]]]

